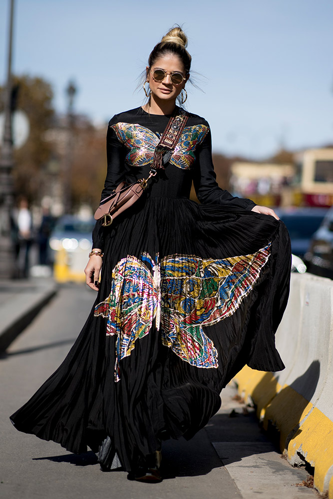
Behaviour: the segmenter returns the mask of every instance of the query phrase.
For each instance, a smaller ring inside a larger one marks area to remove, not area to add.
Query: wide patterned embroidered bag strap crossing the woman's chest
[[[188,120],[188,113],[184,109],[179,109],[171,116],[163,134],[156,146],[153,160],[154,170],[164,170],[164,165],[169,161],[182,131]]]

